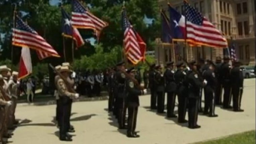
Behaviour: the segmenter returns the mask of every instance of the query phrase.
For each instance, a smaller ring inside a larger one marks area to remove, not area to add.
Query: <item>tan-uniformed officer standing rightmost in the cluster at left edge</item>
[[[12,105],[10,107],[10,113],[9,113],[9,129],[14,129],[14,124],[18,124],[18,121],[15,120],[15,109],[17,105],[17,98],[19,95],[18,87],[19,87],[19,81],[18,81],[18,72],[13,71],[12,76],[8,82],[9,85],[9,92],[11,96]]]

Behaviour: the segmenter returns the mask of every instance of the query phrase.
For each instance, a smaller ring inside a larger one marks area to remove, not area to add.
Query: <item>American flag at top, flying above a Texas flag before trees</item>
[[[78,0],[72,0],[72,26],[81,29],[92,29],[99,39],[100,32],[108,23],[86,10]]]

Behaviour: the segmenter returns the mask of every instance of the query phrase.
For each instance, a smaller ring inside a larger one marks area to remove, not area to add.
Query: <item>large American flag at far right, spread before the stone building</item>
[[[191,45],[227,47],[225,37],[200,12],[185,2],[187,41]]]

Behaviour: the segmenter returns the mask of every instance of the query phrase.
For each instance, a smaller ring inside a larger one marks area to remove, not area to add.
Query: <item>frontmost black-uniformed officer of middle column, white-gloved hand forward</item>
[[[132,77],[135,77],[134,68],[130,68],[127,70],[127,73]],[[139,137],[135,132],[136,123],[137,123],[137,113],[139,107],[139,95],[143,95],[147,92],[146,89],[140,90],[134,86],[132,80],[127,79],[127,106],[128,106],[128,128],[127,128],[127,137]]]

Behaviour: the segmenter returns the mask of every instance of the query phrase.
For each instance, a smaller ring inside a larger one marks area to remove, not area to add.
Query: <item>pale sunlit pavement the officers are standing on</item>
[[[136,130],[140,138],[127,138],[125,130],[118,130],[117,121],[107,112],[108,101],[75,102],[71,124],[73,142],[61,142],[53,123],[56,105],[34,106],[18,104],[16,118],[21,124],[8,141],[13,144],[188,144],[219,138],[255,129],[255,79],[246,79],[242,98],[242,113],[216,107],[219,117],[199,115],[200,129],[189,129],[149,109],[150,96],[140,97]],[[177,113],[177,107],[176,107]]]

